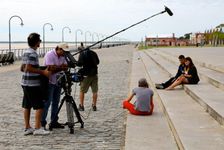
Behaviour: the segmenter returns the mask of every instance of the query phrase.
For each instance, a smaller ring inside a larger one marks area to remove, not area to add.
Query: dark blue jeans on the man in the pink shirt
[[[44,111],[41,118],[41,125],[44,127],[47,124],[46,118],[48,114],[48,109],[51,104],[51,122],[52,124],[58,121],[58,116],[56,116],[58,111],[58,104],[61,96],[61,87],[48,84],[48,100],[44,103]]]

